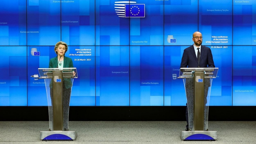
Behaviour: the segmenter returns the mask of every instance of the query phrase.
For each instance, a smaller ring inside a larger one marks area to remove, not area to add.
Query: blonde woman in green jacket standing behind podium
[[[65,56],[65,53],[68,50],[68,45],[64,42],[58,42],[54,47],[54,52],[57,54],[56,57],[50,59],[49,68],[74,68],[73,61],[71,58]],[[76,73],[73,71],[73,76],[76,76]],[[71,94],[72,81],[70,78],[63,79],[63,115],[64,115],[64,131],[68,131],[68,111],[69,111],[69,102]],[[51,102],[53,103],[53,91],[52,91],[52,81],[50,83],[50,95]]]

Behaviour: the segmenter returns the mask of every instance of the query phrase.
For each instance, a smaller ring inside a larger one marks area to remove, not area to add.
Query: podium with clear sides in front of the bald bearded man
[[[217,131],[208,131],[208,110],[212,79],[219,68],[180,68],[188,104],[188,131],[182,140],[216,140]]]

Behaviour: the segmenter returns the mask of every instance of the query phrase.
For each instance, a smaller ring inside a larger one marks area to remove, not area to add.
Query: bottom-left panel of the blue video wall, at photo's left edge
[[[0,46],[0,106],[27,106],[27,47]]]

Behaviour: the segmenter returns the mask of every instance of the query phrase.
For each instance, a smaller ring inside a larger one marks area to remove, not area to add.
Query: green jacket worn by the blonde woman
[[[50,59],[49,62],[49,68],[57,68],[58,66],[58,57],[54,57],[52,59]],[[65,57],[64,56],[64,63],[63,63],[63,68],[74,68],[73,66],[73,61],[71,58]],[[64,78],[64,87],[66,89],[69,89],[72,87],[72,82],[70,80],[70,78]],[[50,88],[52,88],[52,81],[50,83]]]

